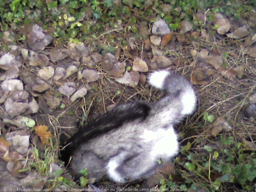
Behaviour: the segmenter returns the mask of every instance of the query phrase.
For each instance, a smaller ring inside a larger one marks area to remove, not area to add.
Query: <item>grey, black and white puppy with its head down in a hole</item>
[[[149,75],[149,84],[166,90],[154,103],[119,104],[89,122],[68,141],[62,159],[70,162],[71,173],[83,168],[90,178],[107,175],[115,182],[147,178],[162,163],[178,154],[174,126],[196,108],[190,82],[178,74],[162,70]]]

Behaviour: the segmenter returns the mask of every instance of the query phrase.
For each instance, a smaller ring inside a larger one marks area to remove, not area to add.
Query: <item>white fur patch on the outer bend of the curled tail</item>
[[[194,112],[196,108],[196,95],[192,88],[186,90],[186,92],[182,95],[181,102],[184,106],[181,114],[189,115]]]

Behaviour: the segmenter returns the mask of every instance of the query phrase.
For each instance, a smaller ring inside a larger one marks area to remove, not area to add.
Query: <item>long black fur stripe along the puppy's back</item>
[[[122,107],[124,105],[125,108]],[[130,105],[130,108],[127,108],[127,105]],[[89,122],[86,126],[80,127],[78,132],[68,140],[68,146],[61,151],[62,160],[67,165],[70,156],[72,156],[80,144],[89,142],[91,139],[114,130],[128,121],[135,119],[144,120],[149,112],[150,106],[144,102],[118,104],[110,112],[106,112]]]

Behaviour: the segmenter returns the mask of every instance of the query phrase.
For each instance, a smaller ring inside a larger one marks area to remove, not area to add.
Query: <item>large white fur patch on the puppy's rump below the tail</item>
[[[170,128],[159,128],[156,132],[145,130],[141,136],[146,142],[154,142],[154,147],[151,151],[151,156],[154,160],[161,158],[169,160],[176,155],[179,150],[178,136],[174,132],[172,126]]]

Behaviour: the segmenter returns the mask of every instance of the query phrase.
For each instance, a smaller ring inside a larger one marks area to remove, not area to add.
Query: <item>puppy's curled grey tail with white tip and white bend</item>
[[[181,75],[167,70],[156,71],[150,74],[149,84],[167,91],[167,95],[153,106],[162,120],[178,122],[196,109],[196,94],[190,82]]]

